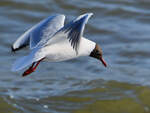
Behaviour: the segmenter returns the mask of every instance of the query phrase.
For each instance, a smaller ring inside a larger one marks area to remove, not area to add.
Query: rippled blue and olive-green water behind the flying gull
[[[99,43],[109,64],[89,57],[43,62],[25,78],[10,71],[28,53],[11,53],[28,28],[55,13],[67,22],[93,12],[85,37]],[[150,1],[1,0],[0,111],[3,113],[150,113]]]

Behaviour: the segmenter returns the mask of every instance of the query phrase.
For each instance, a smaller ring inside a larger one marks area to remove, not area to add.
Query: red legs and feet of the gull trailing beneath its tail
[[[42,58],[41,60],[37,61],[37,62],[33,62],[32,65],[22,74],[22,76],[27,76],[30,73],[34,72],[37,68],[37,66],[40,64],[40,62],[43,60],[44,58]]]

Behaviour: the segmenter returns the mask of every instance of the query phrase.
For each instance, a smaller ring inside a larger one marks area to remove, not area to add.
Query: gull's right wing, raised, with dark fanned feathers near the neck
[[[63,28],[61,28],[58,32],[56,32],[56,34],[54,35],[54,38],[50,39],[48,44],[50,44],[52,40],[53,40],[53,43],[55,42],[55,40],[58,41],[62,36],[69,40],[69,42],[71,43],[71,46],[78,54],[80,39],[83,35],[85,24],[87,23],[88,19],[92,15],[93,15],[92,13],[86,13],[86,14],[80,15],[78,18],[74,19],[73,21],[65,25]]]

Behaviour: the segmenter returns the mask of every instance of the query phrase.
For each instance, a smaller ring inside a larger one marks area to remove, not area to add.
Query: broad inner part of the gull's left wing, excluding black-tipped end
[[[64,26],[64,20],[64,15],[55,15],[47,18],[42,24],[37,26],[30,35],[30,48],[36,47],[38,43],[40,45],[44,44]]]

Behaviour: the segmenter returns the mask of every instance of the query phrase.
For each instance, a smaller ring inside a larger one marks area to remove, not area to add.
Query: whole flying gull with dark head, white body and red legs
[[[29,45],[30,53],[15,61],[12,71],[30,66],[22,76],[34,72],[41,61],[60,62],[90,56],[107,64],[101,47],[83,37],[85,24],[93,13],[86,13],[64,25],[65,15],[55,14],[43,19],[22,34],[12,45],[13,52]]]

